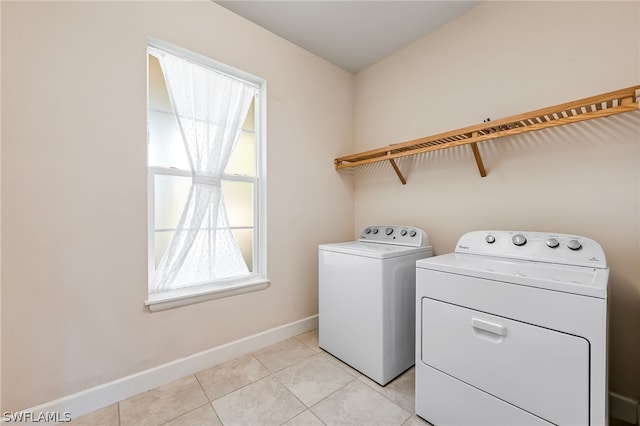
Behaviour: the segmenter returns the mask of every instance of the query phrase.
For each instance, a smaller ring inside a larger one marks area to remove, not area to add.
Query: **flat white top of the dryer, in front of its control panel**
[[[449,253],[421,259],[416,262],[416,267],[600,299],[607,298],[609,268],[569,266],[464,253]]]

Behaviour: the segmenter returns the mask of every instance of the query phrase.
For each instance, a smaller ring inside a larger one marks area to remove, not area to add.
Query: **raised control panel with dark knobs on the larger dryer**
[[[455,251],[564,265],[607,267],[600,244],[572,234],[473,231],[460,237]]]

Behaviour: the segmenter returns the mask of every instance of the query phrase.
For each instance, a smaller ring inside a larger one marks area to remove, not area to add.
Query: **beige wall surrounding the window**
[[[148,35],[267,80],[267,290],[144,309]],[[1,411],[317,313],[353,75],[212,2],[2,2],[2,56]]]

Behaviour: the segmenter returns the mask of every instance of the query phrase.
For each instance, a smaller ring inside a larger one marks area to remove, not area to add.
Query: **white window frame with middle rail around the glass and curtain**
[[[252,268],[248,276],[218,280],[212,283],[195,284],[194,286],[170,290],[158,294],[149,294],[145,305],[151,312],[190,305],[206,300],[229,297],[252,291],[265,289],[270,280],[267,277],[267,155],[266,155],[266,80],[245,71],[218,62],[206,56],[188,51],[179,46],[153,37],[147,38],[147,47],[155,47],[167,51],[200,66],[220,72],[232,78],[254,85],[257,93],[254,97],[254,130],[255,130],[255,176],[224,174],[222,180],[253,183],[253,255]],[[147,50],[148,52],[148,50]],[[149,59],[147,61],[147,90],[149,88]],[[149,111],[147,94],[147,111]],[[147,112],[148,114],[148,112]],[[148,118],[147,118],[148,120]],[[147,121],[148,122],[148,121]],[[147,124],[148,126],[148,124]],[[244,129],[243,129],[244,131]],[[147,141],[148,144],[148,141]],[[150,166],[147,161],[147,250],[148,274],[147,286],[155,272],[155,177],[157,175],[173,175],[191,177],[190,171],[162,166]],[[231,227],[233,229],[233,227]]]

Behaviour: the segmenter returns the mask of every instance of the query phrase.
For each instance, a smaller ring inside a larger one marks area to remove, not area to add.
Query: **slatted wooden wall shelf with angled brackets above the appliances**
[[[334,163],[336,169],[340,170],[379,161],[389,161],[402,184],[406,184],[406,179],[396,164],[396,158],[453,148],[459,145],[470,145],[478,171],[484,177],[487,172],[478,150],[478,142],[635,111],[638,109],[639,98],[640,85],[628,87],[525,114],[338,157]]]

